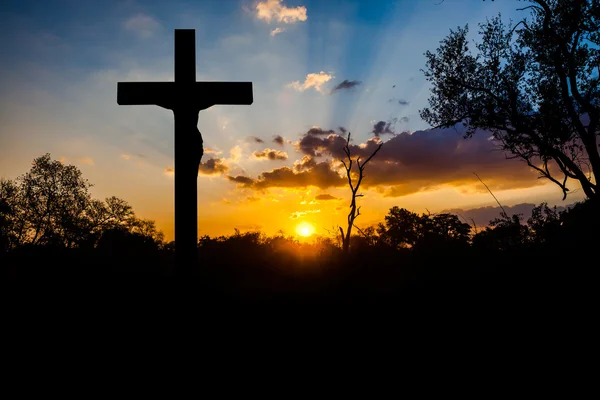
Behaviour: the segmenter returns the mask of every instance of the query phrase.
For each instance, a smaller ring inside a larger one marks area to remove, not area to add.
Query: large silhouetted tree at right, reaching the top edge
[[[563,191],[578,182],[600,201],[600,1],[530,0],[531,19],[480,24],[472,55],[468,25],[427,51],[429,108],[436,127],[490,131],[510,158],[520,158]]]

